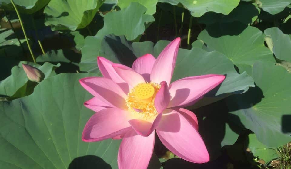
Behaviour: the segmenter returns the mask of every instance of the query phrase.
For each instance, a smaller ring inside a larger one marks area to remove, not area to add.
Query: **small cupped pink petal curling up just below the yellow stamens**
[[[162,113],[158,114],[156,118],[153,118],[152,121],[132,119],[132,120],[129,120],[128,122],[137,134],[147,137],[150,134],[152,134],[152,132],[157,128],[161,119],[162,119]]]

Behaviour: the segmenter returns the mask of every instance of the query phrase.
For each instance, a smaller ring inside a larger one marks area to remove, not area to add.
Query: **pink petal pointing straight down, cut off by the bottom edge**
[[[118,151],[119,169],[146,169],[152,157],[154,143],[155,132],[148,137],[137,135],[134,130],[127,132]]]

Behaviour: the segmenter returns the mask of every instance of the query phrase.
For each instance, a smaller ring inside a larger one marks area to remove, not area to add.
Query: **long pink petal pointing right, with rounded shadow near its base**
[[[172,99],[169,107],[182,107],[196,101],[204,94],[218,86],[225,76],[208,74],[202,76],[191,76],[179,79],[169,86]]]

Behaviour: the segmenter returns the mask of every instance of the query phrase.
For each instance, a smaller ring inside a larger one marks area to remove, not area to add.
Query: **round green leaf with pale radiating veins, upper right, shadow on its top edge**
[[[251,67],[256,61],[275,64],[272,52],[264,45],[264,36],[258,28],[239,22],[208,25],[199,36],[207,48],[225,54],[239,68]]]

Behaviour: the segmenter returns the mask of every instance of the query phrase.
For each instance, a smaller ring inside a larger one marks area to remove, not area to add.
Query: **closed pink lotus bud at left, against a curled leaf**
[[[25,71],[28,79],[32,82],[41,82],[45,75],[36,67],[22,63],[23,70]]]

